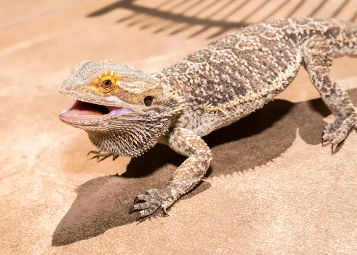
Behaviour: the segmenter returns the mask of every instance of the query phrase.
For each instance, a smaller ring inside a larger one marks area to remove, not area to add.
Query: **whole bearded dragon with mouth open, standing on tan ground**
[[[138,157],[157,142],[187,159],[164,187],[139,194],[136,220],[164,214],[203,178],[212,161],[203,136],[262,108],[296,77],[300,66],[336,117],[322,132],[334,152],[356,128],[347,92],[330,79],[333,59],[357,55],[357,24],[294,18],[251,24],[228,33],[159,72],[122,63],[80,61],[60,92],[74,98],[61,121],[85,130],[95,157]],[[237,131],[239,132],[239,131]]]

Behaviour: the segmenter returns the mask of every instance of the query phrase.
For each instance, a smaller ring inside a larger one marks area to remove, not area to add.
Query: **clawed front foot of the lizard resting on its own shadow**
[[[140,194],[134,199],[134,206],[130,208],[129,215],[135,211],[139,211],[136,220],[148,216],[158,210],[159,207],[162,208],[166,215],[166,209],[169,208],[174,199],[168,194],[167,191],[163,189],[151,189],[145,194]]]

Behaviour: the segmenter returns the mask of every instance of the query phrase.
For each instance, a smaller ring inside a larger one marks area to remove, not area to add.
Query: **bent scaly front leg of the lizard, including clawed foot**
[[[154,213],[161,207],[165,214],[182,195],[192,190],[205,175],[212,161],[211,150],[201,137],[181,128],[172,130],[168,145],[188,158],[176,169],[169,182],[160,189],[150,189],[138,195],[129,214],[140,211],[137,220]]]

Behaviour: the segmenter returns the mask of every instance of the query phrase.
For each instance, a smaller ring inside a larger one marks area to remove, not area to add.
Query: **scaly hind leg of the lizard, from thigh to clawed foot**
[[[305,68],[322,100],[336,117],[322,133],[322,144],[331,143],[331,150],[341,144],[356,125],[356,112],[347,92],[329,78],[333,49],[323,38],[311,38],[302,47]]]

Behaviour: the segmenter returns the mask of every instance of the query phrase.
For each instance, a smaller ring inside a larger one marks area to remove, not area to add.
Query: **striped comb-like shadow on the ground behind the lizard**
[[[340,1],[339,5],[334,7],[330,18],[337,17],[348,6],[351,0]],[[135,0],[121,0],[93,11],[87,17],[97,17],[106,15],[116,9],[130,10],[133,14],[120,17],[116,20],[117,23],[126,23],[129,27],[138,27],[140,30],[153,29],[154,34],[168,32],[168,35],[176,35],[189,30],[193,25],[201,25],[202,27],[190,34],[188,37],[196,37],[211,28],[216,28],[216,31],[210,32],[207,39],[220,36],[231,29],[245,27],[249,24],[252,16],[256,22],[264,22],[273,17],[276,12],[281,12],[281,18],[295,17],[299,12],[299,16],[316,17],[319,11],[328,5],[328,0],[323,0],[319,5],[313,8],[305,8],[305,5],[311,5],[307,0],[285,0],[277,4],[273,0],[265,0],[254,8],[251,8],[253,0],[237,1],[231,0],[228,2],[210,1],[210,0],[166,0],[159,4],[150,3],[149,6],[144,6],[142,3]],[[149,3],[149,2],[147,2]],[[329,7],[331,8],[331,7]],[[303,11],[302,11],[303,10]],[[357,18],[357,10],[351,17],[346,17],[353,21]],[[235,20],[236,19],[236,20]]]

